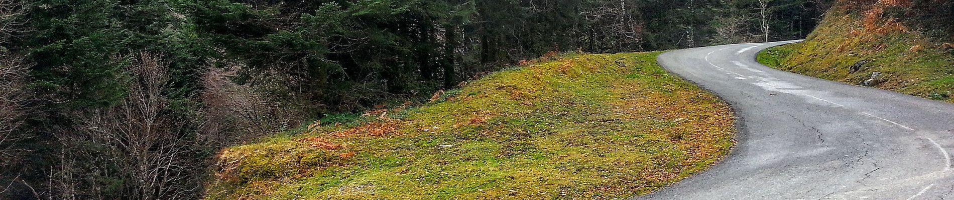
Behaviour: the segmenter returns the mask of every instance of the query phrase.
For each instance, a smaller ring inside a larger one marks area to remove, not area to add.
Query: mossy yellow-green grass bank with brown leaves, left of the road
[[[206,199],[622,199],[699,173],[734,117],[658,52],[528,64],[421,107],[229,148]],[[337,122],[336,122],[337,121]]]

